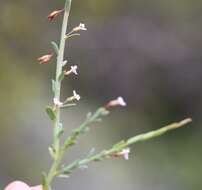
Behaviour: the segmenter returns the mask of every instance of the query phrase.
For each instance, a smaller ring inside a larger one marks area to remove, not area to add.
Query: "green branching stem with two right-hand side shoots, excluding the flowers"
[[[59,48],[57,47],[57,44],[53,43],[53,45],[57,51],[57,66],[56,66],[55,81],[53,80],[53,87],[54,87],[53,91],[54,91],[54,100],[56,99],[59,102],[60,102],[61,82],[62,82],[62,80],[60,79],[60,76],[63,72],[63,66],[64,66],[65,41],[70,37],[79,35],[77,33],[72,34],[72,32],[70,32],[69,35],[66,35],[68,18],[69,18],[69,13],[70,13],[70,9],[71,9],[71,3],[72,3],[72,0],[65,1],[64,17],[63,17],[63,23],[62,23]],[[80,25],[82,25],[82,24],[80,24]],[[109,104],[110,106],[115,106],[115,104],[117,104],[117,100],[111,101],[110,103],[111,103],[111,104]],[[134,136],[126,141],[121,141],[121,142],[113,145],[108,150],[103,150],[100,153],[87,156],[84,159],[76,160],[69,165],[61,167],[61,162],[62,162],[64,153],[66,152],[66,150],[77,142],[78,137],[81,134],[84,134],[86,131],[88,131],[89,125],[100,121],[103,116],[106,116],[109,114],[109,111],[108,111],[109,106],[101,107],[94,114],[89,114],[88,117],[86,118],[86,120],[84,121],[84,123],[81,124],[80,127],[76,128],[72,132],[72,134],[69,136],[69,138],[67,138],[65,140],[64,144],[62,144],[62,143],[60,143],[61,132],[63,132],[63,128],[61,127],[61,122],[60,122],[60,108],[74,106],[74,105],[75,104],[65,104],[63,106],[55,106],[54,110],[52,110],[49,107],[47,109],[47,112],[51,116],[51,120],[53,121],[53,130],[54,130],[53,131],[53,144],[49,149],[51,152],[51,155],[53,157],[53,163],[52,163],[52,166],[51,166],[47,176],[44,175],[44,178],[42,181],[43,190],[50,190],[53,179],[59,175],[70,174],[73,170],[80,168],[82,166],[85,166],[93,161],[101,161],[106,158],[111,158],[111,157],[113,157],[113,155],[122,151],[124,148],[128,148],[132,144],[135,144],[135,143],[141,142],[141,141],[147,141],[149,139],[163,135],[164,133],[166,133],[170,130],[182,127],[191,122],[191,119],[188,118],[181,122],[173,123],[168,126],[165,126],[158,130],[154,130],[154,131],[151,131],[148,133]],[[120,102],[119,102],[119,105],[121,105]]]

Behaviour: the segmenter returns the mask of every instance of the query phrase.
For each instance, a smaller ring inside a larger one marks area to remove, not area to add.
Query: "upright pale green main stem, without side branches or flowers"
[[[65,50],[65,35],[67,31],[67,23],[69,18],[69,12],[71,8],[72,0],[66,0],[65,2],[65,9],[64,9],[64,17],[62,23],[62,31],[61,31],[61,38],[60,38],[60,47],[57,57],[57,67],[56,67],[56,79],[55,79],[55,98],[60,99],[60,92],[61,92],[61,81],[59,80],[59,76],[62,73],[62,65],[64,59],[64,50]],[[63,152],[60,150],[60,139],[57,137],[57,128],[60,125],[60,108],[56,109],[56,119],[54,121],[54,134],[53,134],[53,147],[55,149],[56,158],[50,168],[50,171],[47,175],[47,186],[50,187],[53,178],[55,177],[55,173],[60,166],[60,162],[63,157]]]

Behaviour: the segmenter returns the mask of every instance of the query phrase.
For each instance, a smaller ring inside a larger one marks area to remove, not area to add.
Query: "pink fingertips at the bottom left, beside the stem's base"
[[[30,187],[26,183],[21,181],[14,181],[10,183],[4,190],[42,190],[42,186]]]

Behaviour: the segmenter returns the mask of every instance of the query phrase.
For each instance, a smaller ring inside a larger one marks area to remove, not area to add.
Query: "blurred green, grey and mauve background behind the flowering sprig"
[[[51,160],[52,126],[44,107],[52,102],[52,52],[62,17],[47,15],[63,0],[0,2],[0,188],[12,180],[40,183]],[[62,99],[82,96],[62,113],[66,135],[86,113],[117,96],[128,103],[69,150],[66,163],[133,135],[192,117],[189,127],[133,146],[129,161],[93,163],[60,190],[201,190],[202,175],[202,1],[73,0],[69,30],[80,22],[88,31],[69,41],[65,57],[79,76],[63,81]]]

